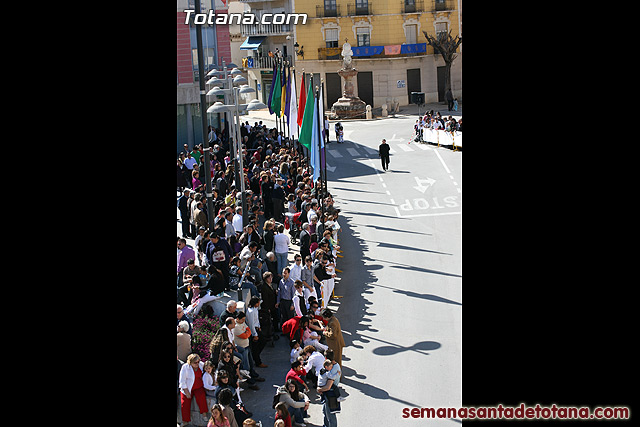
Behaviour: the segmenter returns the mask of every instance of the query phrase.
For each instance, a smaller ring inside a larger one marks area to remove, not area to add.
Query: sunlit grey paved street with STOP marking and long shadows
[[[462,402],[462,153],[409,144],[414,122],[344,122],[345,143],[328,146],[345,251],[331,304],[347,342],[340,425],[424,425],[402,408]]]

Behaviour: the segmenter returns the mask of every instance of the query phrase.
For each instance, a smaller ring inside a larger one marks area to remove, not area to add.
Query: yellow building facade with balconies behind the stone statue
[[[423,31],[461,35],[461,0],[296,0],[295,12],[307,13],[294,27],[298,71],[325,82],[326,108],[341,96],[340,52],[345,41],[358,70],[356,94],[372,108],[392,101],[410,103],[411,92],[425,102],[444,101],[445,63],[426,44]],[[462,100],[462,45],[451,66],[451,89]],[[298,77],[299,79],[299,77]],[[299,86],[298,86],[299,87]]]

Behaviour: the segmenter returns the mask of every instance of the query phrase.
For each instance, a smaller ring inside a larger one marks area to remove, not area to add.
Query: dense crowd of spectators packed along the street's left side
[[[205,194],[205,156],[201,147],[177,160],[178,208],[182,236],[177,237],[178,394],[183,425],[191,421],[192,400],[209,426],[253,426],[242,391],[265,381],[256,368],[265,345],[289,341],[291,369],[273,400],[276,426],[304,426],[310,387],[321,396],[325,427],[337,426],[342,397],[344,339],[340,323],[327,308],[327,284],[340,256],[339,209],[330,193],[312,181],[307,159],[291,142],[262,122],[242,126],[246,206],[226,132],[211,129],[213,200]],[[213,205],[209,212],[208,205]],[[210,221],[213,218],[213,221]],[[213,223],[213,227],[210,224]],[[187,239],[194,239],[193,247]],[[300,250],[289,264],[291,244]],[[193,320],[213,316],[207,303],[225,291],[248,289],[244,311],[230,300],[219,316],[221,327],[206,355],[192,351]],[[207,405],[207,397],[215,402]],[[266,427],[266,426],[265,426]]]

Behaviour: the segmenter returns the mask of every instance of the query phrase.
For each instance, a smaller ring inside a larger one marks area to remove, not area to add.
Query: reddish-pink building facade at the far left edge
[[[177,151],[183,151],[184,144],[192,149],[203,143],[202,116],[200,112],[200,86],[198,75],[198,51],[196,26],[185,24],[187,9],[195,9],[195,0],[177,0]],[[214,9],[216,13],[227,13],[226,0],[202,0],[202,12]],[[222,60],[231,63],[229,25],[202,25],[202,46],[204,50],[205,72],[222,68]],[[217,114],[209,114],[208,123],[219,127]]]

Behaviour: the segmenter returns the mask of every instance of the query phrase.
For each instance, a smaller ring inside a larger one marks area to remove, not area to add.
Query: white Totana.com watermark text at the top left
[[[187,17],[184,20],[185,24],[189,24],[189,20],[193,16],[193,23],[196,25],[233,25],[234,20],[235,24],[240,25],[282,25],[282,24],[294,24],[298,25],[298,21],[301,24],[307,23],[307,14],[306,13],[263,13],[261,16],[256,16],[253,13],[215,13],[213,9],[210,9],[208,12],[196,13],[193,9],[185,9],[184,13],[187,14]]]

